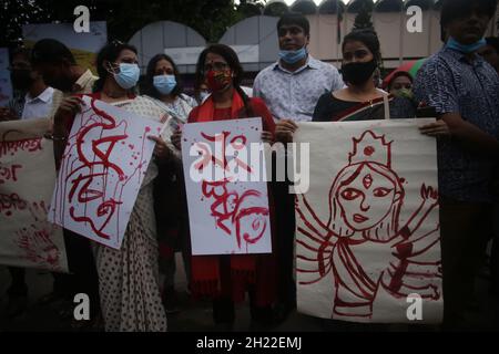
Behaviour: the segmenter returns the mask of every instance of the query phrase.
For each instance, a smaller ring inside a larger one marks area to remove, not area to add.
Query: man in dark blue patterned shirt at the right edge
[[[490,235],[499,76],[476,51],[496,9],[497,0],[445,0],[447,43],[415,82],[418,100],[435,108],[451,134],[438,142],[445,329],[459,325]]]

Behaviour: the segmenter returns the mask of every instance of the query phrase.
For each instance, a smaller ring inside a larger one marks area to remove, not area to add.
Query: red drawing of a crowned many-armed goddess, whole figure
[[[329,190],[328,220],[298,195],[298,284],[332,277],[332,317],[354,321],[373,317],[380,287],[395,298],[439,300],[440,253],[431,250],[439,244],[439,223],[427,225],[438,220],[428,218],[438,214],[437,189],[422,184],[416,210],[400,223],[405,180],[391,167],[391,142],[371,131],[353,142],[348,165]]]

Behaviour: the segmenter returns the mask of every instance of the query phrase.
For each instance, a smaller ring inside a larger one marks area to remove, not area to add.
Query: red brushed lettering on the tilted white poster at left
[[[135,163],[130,163],[134,166],[133,171],[126,175],[124,167],[113,159],[116,158],[118,144],[124,145],[129,138],[128,122],[123,119],[116,123],[113,116],[96,106],[95,100],[90,101],[90,106],[91,110],[83,112],[90,113],[86,121],[70,136],[70,148],[67,148],[61,165],[64,179],[59,181],[57,195],[65,195],[67,200],[57,199],[55,204],[64,206],[62,212],[69,208],[73,221],[90,226],[99,238],[110,240],[120,233],[123,189],[133,177],[145,174],[144,145],[151,128],[145,127],[141,135],[141,146],[128,145]],[[91,148],[88,148],[89,142]],[[116,183],[110,183],[110,176]]]

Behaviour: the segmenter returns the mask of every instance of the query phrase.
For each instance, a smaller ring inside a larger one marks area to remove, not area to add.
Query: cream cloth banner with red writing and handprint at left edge
[[[0,123],[0,263],[68,272],[62,229],[47,220],[55,185],[49,119]]]

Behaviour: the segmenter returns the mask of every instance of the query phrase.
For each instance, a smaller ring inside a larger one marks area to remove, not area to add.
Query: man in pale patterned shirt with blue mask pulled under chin
[[[291,140],[291,134],[283,128],[294,122],[309,122],[314,107],[322,94],[344,86],[337,69],[314,59],[307,50],[310,34],[308,20],[299,13],[284,14],[277,22],[279,60],[264,69],[255,79],[253,94],[268,106],[276,121],[275,137]],[[294,247],[294,197],[288,194],[286,183],[275,183],[273,188],[276,204],[279,238],[279,303],[276,321],[283,321],[296,305],[296,289],[293,279]]]

